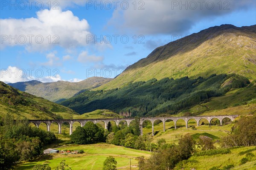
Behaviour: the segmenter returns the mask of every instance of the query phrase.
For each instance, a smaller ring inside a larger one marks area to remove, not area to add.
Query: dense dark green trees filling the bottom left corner
[[[52,132],[31,127],[27,119],[15,120],[7,114],[0,121],[0,169],[10,170],[17,161],[37,158],[45,145],[55,141]]]

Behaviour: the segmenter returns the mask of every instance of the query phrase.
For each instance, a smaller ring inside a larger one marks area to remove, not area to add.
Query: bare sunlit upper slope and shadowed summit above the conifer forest
[[[214,26],[170,42],[94,90],[120,88],[153,78],[209,77],[213,73],[256,79],[256,25]]]

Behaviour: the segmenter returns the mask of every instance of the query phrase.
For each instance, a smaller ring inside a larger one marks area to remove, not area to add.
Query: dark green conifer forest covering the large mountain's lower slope
[[[187,111],[195,105],[207,103],[213,97],[224,95],[230,89],[242,88],[248,84],[250,82],[247,78],[237,74],[213,74],[207,78],[199,77],[197,79],[189,79],[188,77],[151,79],[147,82],[130,83],[119,89],[86,91],[61,102],[61,104],[80,114],[96,109],[109,109],[116,113],[127,112],[131,113],[132,116],[177,114],[181,111]],[[239,105],[247,104],[249,101],[253,102],[256,96],[253,89],[255,89],[255,85],[248,86],[248,95],[244,97],[243,103],[239,102]],[[232,101],[233,104],[237,104],[234,99]],[[232,102],[225,105],[226,108],[232,106]],[[219,108],[213,106],[194,111],[194,113],[198,115],[204,111],[217,109]]]

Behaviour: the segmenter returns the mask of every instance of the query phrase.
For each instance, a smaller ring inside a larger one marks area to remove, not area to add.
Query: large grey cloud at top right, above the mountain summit
[[[137,34],[181,34],[192,28],[201,20],[230,14],[233,11],[255,8],[255,0],[213,1],[174,1],[148,0],[129,2],[129,8],[119,8],[113,12],[108,27],[120,31],[132,31]],[[213,6],[212,6],[213,3]],[[182,5],[184,4],[184,5]],[[220,6],[221,4],[221,6]],[[144,8],[139,10],[138,8]]]

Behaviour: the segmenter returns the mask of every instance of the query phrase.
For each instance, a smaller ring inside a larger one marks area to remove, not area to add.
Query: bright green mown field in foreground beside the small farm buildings
[[[25,162],[18,166],[16,170],[29,170],[35,164],[43,164],[45,161],[49,161],[49,166],[54,170],[62,160],[66,160],[66,164],[72,170],[102,170],[103,162],[108,156],[113,156],[116,159],[118,169],[129,170],[131,159],[132,169],[137,170],[136,157],[145,156],[145,158],[148,158],[150,156],[150,152],[147,151],[134,150],[111,144],[70,145],[59,147],[58,149],[84,150],[84,153],[68,155],[55,153],[44,156],[37,161]]]

